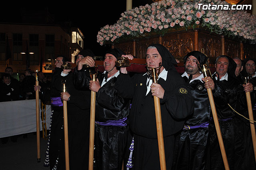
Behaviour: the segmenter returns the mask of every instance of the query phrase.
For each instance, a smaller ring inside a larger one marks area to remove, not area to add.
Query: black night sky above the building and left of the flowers
[[[132,6],[140,6],[150,4],[150,0],[136,0]],[[83,4],[83,5],[82,5]],[[10,5],[11,6],[11,5]],[[97,34],[100,28],[107,24],[112,25],[116,23],[121,17],[121,13],[126,11],[126,0],[109,0],[109,1],[84,1],[72,4],[72,1],[68,3],[58,5],[39,4],[39,5],[22,5],[14,6],[0,10],[0,22],[12,22],[21,23],[22,13],[24,11],[40,11],[48,8],[48,11],[56,23],[63,23],[68,21],[72,27],[78,27],[84,34],[84,48],[90,48],[95,55],[104,56],[104,52],[110,48],[110,46],[101,46],[97,42]]]

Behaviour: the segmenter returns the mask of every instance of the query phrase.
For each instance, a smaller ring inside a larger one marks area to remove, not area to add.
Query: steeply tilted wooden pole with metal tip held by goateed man
[[[201,68],[201,70],[204,74],[204,78],[206,78],[208,76],[208,72],[207,72],[208,68],[206,68],[205,65],[202,65],[202,66],[203,66],[203,68]],[[212,89],[208,88],[207,92],[208,92],[208,97],[209,97],[209,101],[210,101],[210,106],[212,109],[212,116],[213,116],[214,125],[216,128],[216,133],[217,133],[217,137],[218,137],[218,141],[219,141],[219,145],[220,145],[220,151],[221,151],[224,167],[225,167],[225,170],[229,170],[228,159],[227,159],[227,155],[226,155],[226,151],[225,151],[225,147],[224,147],[224,143],[223,143],[223,139],[222,139],[222,134],[220,131],[220,124],[219,124],[219,120],[218,120],[218,116],[217,116],[217,112],[216,112],[216,107],[214,104]]]

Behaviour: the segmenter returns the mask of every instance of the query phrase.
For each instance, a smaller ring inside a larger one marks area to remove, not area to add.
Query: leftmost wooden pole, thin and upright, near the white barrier
[[[39,86],[38,82],[38,70],[36,70],[36,86]],[[36,145],[37,145],[37,162],[40,162],[41,154],[40,154],[40,108],[39,108],[39,89],[36,90]]]

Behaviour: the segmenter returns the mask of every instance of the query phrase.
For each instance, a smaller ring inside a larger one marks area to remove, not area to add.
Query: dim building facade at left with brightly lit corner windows
[[[14,73],[23,73],[28,65],[34,71],[52,72],[44,70],[44,66],[54,64],[58,55],[74,62],[74,56],[83,48],[83,39],[79,28],[0,23],[0,72],[10,66]]]

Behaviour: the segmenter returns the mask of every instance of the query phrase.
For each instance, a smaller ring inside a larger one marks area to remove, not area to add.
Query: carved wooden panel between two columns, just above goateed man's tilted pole
[[[210,63],[215,63],[216,58],[221,55],[220,36],[206,34],[199,31],[198,48],[200,52],[204,49],[204,54],[208,56]]]

